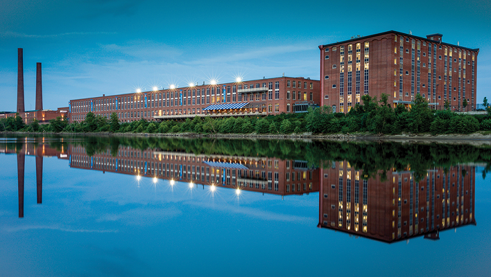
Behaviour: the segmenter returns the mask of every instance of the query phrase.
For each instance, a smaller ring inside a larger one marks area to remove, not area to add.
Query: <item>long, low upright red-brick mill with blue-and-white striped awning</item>
[[[307,111],[320,103],[320,82],[309,78],[268,78],[190,85],[169,89],[70,100],[70,121],[81,121],[89,111],[122,122],[189,118],[194,116],[247,116]]]

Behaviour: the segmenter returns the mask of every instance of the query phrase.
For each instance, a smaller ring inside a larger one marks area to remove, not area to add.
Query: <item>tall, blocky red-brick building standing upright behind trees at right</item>
[[[479,49],[442,42],[441,34],[424,38],[388,31],[319,48],[320,105],[347,112],[363,95],[380,100],[386,93],[394,107],[410,107],[417,94],[436,109],[448,101],[460,110],[464,99],[476,107]]]

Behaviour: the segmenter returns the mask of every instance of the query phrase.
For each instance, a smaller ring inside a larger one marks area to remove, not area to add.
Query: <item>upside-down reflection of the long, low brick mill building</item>
[[[318,192],[319,170],[307,161],[268,157],[189,154],[121,147],[89,157],[83,146],[69,146],[69,166],[182,181],[203,186],[239,188],[273,195]]]

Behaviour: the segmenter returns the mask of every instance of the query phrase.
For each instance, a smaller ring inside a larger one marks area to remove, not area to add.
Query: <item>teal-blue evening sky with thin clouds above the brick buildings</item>
[[[44,108],[74,98],[292,77],[318,80],[318,45],[398,30],[480,48],[477,99],[491,98],[490,1],[12,1],[0,0],[0,111],[13,111],[17,48],[26,109],[42,62]]]

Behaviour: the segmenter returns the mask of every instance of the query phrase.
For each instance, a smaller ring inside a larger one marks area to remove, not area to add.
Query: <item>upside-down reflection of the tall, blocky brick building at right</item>
[[[474,217],[475,167],[413,172],[390,170],[386,178],[362,179],[347,161],[320,170],[319,227],[396,242],[467,224]]]

